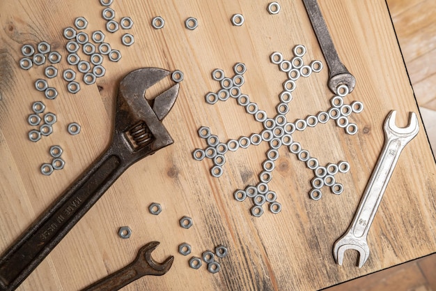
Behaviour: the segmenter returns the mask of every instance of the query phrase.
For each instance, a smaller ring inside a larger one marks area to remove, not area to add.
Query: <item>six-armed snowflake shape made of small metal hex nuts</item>
[[[316,115],[309,115],[305,119],[296,119],[289,122],[286,113],[289,111],[289,103],[293,99],[292,92],[296,88],[299,77],[309,77],[311,73],[319,73],[322,70],[321,61],[311,61],[310,65],[304,65],[302,57],[306,53],[303,45],[297,45],[293,49],[292,59],[285,60],[280,52],[271,54],[270,59],[273,64],[277,64],[279,69],[287,74],[287,80],[283,83],[283,91],[279,94],[279,104],[276,106],[277,115],[274,118],[267,117],[267,113],[258,109],[256,103],[251,102],[247,94],[242,94],[241,87],[244,84],[244,73],[246,67],[242,63],[235,64],[233,77],[225,77],[224,71],[216,69],[212,72],[212,79],[221,84],[221,89],[217,93],[205,95],[206,103],[211,105],[219,100],[226,101],[234,98],[238,105],[244,106],[248,114],[252,114],[254,119],[263,124],[260,133],[253,133],[249,137],[242,136],[238,140],[228,140],[221,142],[217,135],[210,133],[210,128],[202,126],[198,129],[198,135],[205,139],[208,147],[205,149],[195,149],[192,156],[197,161],[210,158],[213,166],[210,173],[213,177],[221,177],[223,174],[222,166],[226,163],[225,154],[227,151],[237,151],[246,149],[250,145],[258,145],[261,142],[268,142],[270,149],[266,153],[266,160],[262,163],[263,170],[258,174],[259,182],[256,185],[247,185],[244,190],[237,190],[233,193],[235,200],[244,201],[247,197],[251,198],[253,206],[250,211],[253,216],[259,217],[263,214],[263,205],[267,204],[268,209],[274,214],[281,211],[281,204],[277,202],[277,193],[271,191],[268,183],[272,180],[274,161],[279,158],[279,149],[282,146],[288,147],[289,151],[295,154],[299,161],[306,163],[309,169],[313,170],[314,177],[311,179],[312,189],[309,196],[313,200],[320,200],[322,197],[321,189],[325,186],[330,188],[332,193],[339,195],[343,192],[343,185],[336,182],[335,175],[346,173],[350,170],[350,164],[345,161],[338,163],[328,163],[320,165],[318,159],[311,156],[308,150],[302,149],[299,142],[293,140],[295,130],[303,131],[308,127],[315,127],[318,124],[325,124],[329,120],[336,122],[336,126],[345,129],[345,133],[355,135],[357,124],[348,121],[348,116],[352,113],[360,113],[364,109],[363,103],[354,101],[350,105],[344,103],[345,96],[348,95],[348,87],[341,85],[338,87],[338,94],[330,100],[331,107],[326,112],[319,112]]]

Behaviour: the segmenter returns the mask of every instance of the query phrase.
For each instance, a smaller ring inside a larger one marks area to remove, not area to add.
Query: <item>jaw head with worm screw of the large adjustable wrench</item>
[[[116,100],[114,144],[123,148],[123,156],[135,162],[173,143],[162,119],[178,96],[179,84],[173,85],[154,100],[147,100],[146,90],[169,75],[161,68],[141,68],[120,82]],[[150,103],[154,103],[153,107]],[[123,159],[124,159],[123,158]]]

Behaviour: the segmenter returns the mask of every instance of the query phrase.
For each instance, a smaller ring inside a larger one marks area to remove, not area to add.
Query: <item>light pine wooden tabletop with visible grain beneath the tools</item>
[[[197,135],[201,126],[208,126],[224,142],[263,129],[232,98],[205,103],[205,94],[219,89],[212,70],[221,68],[233,76],[233,65],[244,63],[242,92],[274,117],[286,74],[271,64],[270,54],[281,52],[289,59],[293,47],[302,44],[307,49],[305,62],[318,59],[325,64],[302,1],[280,5],[279,14],[270,15],[267,1],[114,1],[116,20],[123,16],[134,20],[127,32],[135,43],[125,47],[120,37],[126,31],[105,30],[97,0],[1,2],[2,251],[107,147],[117,86],[124,75],[147,66],[185,74],[176,105],[164,119],[174,144],[130,167],[18,290],[80,290],[131,262],[137,250],[153,240],[160,241],[153,252],[156,260],[176,257],[172,269],[162,277],[141,278],[124,290],[317,290],[436,251],[436,165],[420,119],[421,131],[400,156],[375,216],[368,262],[361,269],[355,267],[357,253],[348,251],[343,266],[338,266],[332,256],[334,241],[348,228],[382,149],[384,118],[390,110],[398,110],[396,124],[405,126],[408,112],[419,113],[384,1],[320,1],[336,50],[357,79],[355,91],[345,101],[360,100],[365,109],[350,116],[359,127],[356,135],[346,135],[329,121],[296,132],[293,138],[322,165],[350,163],[350,172],[336,176],[343,194],[323,188],[322,199],[311,200],[313,172],[281,147],[268,184],[277,192],[281,212],[272,214],[264,205],[265,214],[255,218],[249,211],[251,200],[237,202],[233,192],[258,183],[266,142],[228,152],[219,178],[210,175],[212,161],[192,158],[194,149],[206,146]],[[242,27],[231,24],[235,13],[244,15]],[[157,15],[165,20],[160,30],[150,26]],[[62,33],[79,16],[88,20],[87,33],[104,31],[105,41],[123,57],[117,63],[105,59],[104,77],[90,86],[80,81],[81,90],[73,95],[60,76],[70,68]],[[193,31],[184,23],[191,16],[198,20]],[[30,70],[18,66],[22,45],[42,40],[63,56],[55,65],[59,76],[49,80],[59,91],[54,100],[47,100],[33,84],[44,77],[47,63]],[[297,80],[287,114],[290,121],[330,107],[327,76],[325,67]],[[150,96],[159,90],[150,91]],[[37,100],[45,103],[45,112],[56,114],[57,122],[52,135],[33,143],[27,138],[33,128],[26,119]],[[79,135],[67,132],[72,121],[81,125]],[[54,144],[63,148],[65,167],[46,177],[39,167],[51,161],[48,151]],[[151,202],[162,204],[158,216],[148,212]],[[179,226],[185,215],[194,221],[189,230]],[[132,229],[130,239],[118,237],[118,228],[124,225]],[[197,256],[219,244],[227,246],[228,257],[219,259],[221,271],[210,274],[205,264],[198,270],[189,268],[190,255],[178,253],[178,245],[185,241]]]

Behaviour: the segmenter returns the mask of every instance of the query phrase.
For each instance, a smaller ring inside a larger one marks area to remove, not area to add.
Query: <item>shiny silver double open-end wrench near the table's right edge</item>
[[[334,244],[333,255],[338,264],[342,264],[344,252],[348,249],[359,252],[359,268],[368,260],[369,247],[366,237],[382,200],[384,190],[389,183],[401,151],[419,132],[418,118],[414,112],[410,112],[409,124],[405,128],[398,128],[395,125],[395,117],[396,111],[393,110],[384,121],[382,153],[366,185],[355,218],[348,231]]]

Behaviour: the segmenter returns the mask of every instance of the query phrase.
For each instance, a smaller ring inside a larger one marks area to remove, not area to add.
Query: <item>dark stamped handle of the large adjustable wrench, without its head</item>
[[[1,291],[15,290],[124,172],[128,164],[113,154],[112,149],[109,147],[77,183],[3,253],[0,258]]]

